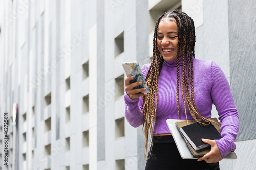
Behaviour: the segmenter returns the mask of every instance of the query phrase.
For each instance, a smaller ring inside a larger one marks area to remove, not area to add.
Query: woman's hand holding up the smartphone
[[[141,85],[142,82],[139,81],[139,82],[130,84],[130,80],[132,80],[132,79],[133,79],[133,76],[128,76],[125,79],[125,91],[129,95],[129,97],[131,99],[136,99],[136,98],[146,95],[146,93],[139,93],[142,91],[146,91],[146,88],[133,89],[134,87]]]

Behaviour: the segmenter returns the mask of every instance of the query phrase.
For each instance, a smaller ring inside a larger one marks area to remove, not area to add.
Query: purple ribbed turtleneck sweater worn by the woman
[[[216,106],[221,122],[221,139],[215,140],[222,158],[236,149],[234,140],[238,134],[239,116],[234,104],[233,95],[222,69],[214,62],[193,59],[194,66],[194,98],[198,112],[211,117],[212,104]],[[150,64],[143,65],[142,74],[146,77]],[[180,77],[182,74],[182,61],[180,62]],[[167,119],[178,119],[176,102],[177,61],[164,61],[158,82],[158,105],[156,110],[156,124],[153,134],[170,133],[166,124]],[[180,119],[186,120],[184,104],[181,95],[180,79],[179,105]],[[133,127],[143,124],[142,98],[131,99],[124,92],[125,117]],[[138,104],[139,102],[139,104]],[[193,119],[187,109],[188,119]]]

